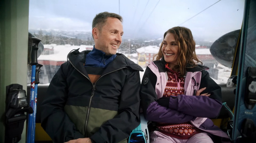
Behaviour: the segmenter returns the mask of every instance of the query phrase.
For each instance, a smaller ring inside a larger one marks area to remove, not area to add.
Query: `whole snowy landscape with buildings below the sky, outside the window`
[[[60,65],[67,61],[68,53],[73,49],[92,50],[94,41],[90,32],[78,31],[55,31],[55,30],[29,30],[29,32],[41,39],[44,49],[38,57],[38,63],[44,65],[39,73],[41,84],[49,84],[54,74],[59,69]],[[158,53],[162,38],[158,39],[132,39],[122,38],[122,43],[117,50],[132,61],[137,63],[143,69],[153,60],[155,54]],[[222,83],[219,71],[230,72],[229,69],[219,64],[210,53],[210,46],[212,43],[196,40],[196,54],[204,65],[209,67],[210,76]],[[224,70],[225,69],[225,70]],[[30,72],[28,71],[28,77]],[[143,76],[143,73],[141,73]],[[228,78],[225,75],[222,78]],[[29,82],[29,79],[28,79]]]

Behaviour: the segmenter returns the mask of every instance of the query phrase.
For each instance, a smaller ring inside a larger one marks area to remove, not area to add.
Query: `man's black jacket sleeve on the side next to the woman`
[[[139,126],[139,71],[127,76],[120,94],[118,115],[104,123],[90,138],[97,143],[119,142]]]

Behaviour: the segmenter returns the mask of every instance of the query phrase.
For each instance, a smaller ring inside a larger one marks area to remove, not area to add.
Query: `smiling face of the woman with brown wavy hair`
[[[167,33],[162,46],[162,53],[164,56],[164,60],[169,63],[169,65],[177,65],[178,64],[178,52],[179,46],[178,42],[175,40],[173,33]]]

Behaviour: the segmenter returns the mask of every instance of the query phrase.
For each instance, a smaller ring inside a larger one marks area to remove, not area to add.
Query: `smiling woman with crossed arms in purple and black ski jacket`
[[[144,116],[156,123],[151,143],[210,143],[210,134],[228,136],[211,119],[222,107],[221,87],[198,65],[190,29],[166,31],[156,61],[148,64],[141,83]]]

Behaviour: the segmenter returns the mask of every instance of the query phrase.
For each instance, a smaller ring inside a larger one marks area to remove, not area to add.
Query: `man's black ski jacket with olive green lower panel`
[[[83,66],[89,52],[71,52],[54,75],[41,105],[41,126],[56,143],[84,137],[96,143],[127,142],[139,125],[143,70],[117,53],[93,84]]]

